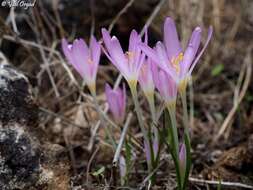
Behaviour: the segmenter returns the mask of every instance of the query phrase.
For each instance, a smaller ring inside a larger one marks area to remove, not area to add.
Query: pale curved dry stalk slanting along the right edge
[[[247,51],[247,55],[244,59],[244,63],[246,64],[246,67],[245,69],[247,70],[246,71],[246,76],[245,76],[245,80],[244,80],[244,83],[243,83],[243,86],[242,86],[242,90],[240,92],[240,95],[238,97],[238,100],[234,103],[232,109],[230,110],[228,116],[226,117],[226,119],[224,120],[217,136],[214,138],[214,141],[213,142],[216,142],[220,136],[225,132],[225,130],[228,128],[229,126],[229,123],[231,122],[231,120],[233,119],[233,116],[234,114],[236,113],[236,110],[238,108],[238,106],[240,105],[241,101],[243,100],[245,94],[246,94],[246,91],[248,89],[248,86],[249,86],[249,83],[250,83],[250,79],[251,79],[251,73],[252,73],[252,59],[251,59],[251,50],[252,50],[252,46],[250,46],[248,48],[248,51]]]

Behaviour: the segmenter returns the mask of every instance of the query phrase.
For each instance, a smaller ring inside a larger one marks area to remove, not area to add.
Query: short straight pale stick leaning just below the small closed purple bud
[[[114,158],[113,158],[113,165],[116,165],[118,160],[119,160],[119,155],[120,155],[120,151],[121,151],[121,148],[122,148],[122,145],[123,145],[123,142],[125,140],[125,136],[126,136],[126,133],[127,133],[127,129],[128,129],[128,126],[129,126],[129,123],[132,119],[132,113],[128,114],[128,117],[127,117],[127,120],[126,120],[126,123],[124,125],[124,128],[123,128],[123,131],[121,133],[121,136],[120,136],[120,140],[119,140],[119,143],[118,143],[118,146],[117,146],[117,149],[116,149],[116,152],[114,154]]]

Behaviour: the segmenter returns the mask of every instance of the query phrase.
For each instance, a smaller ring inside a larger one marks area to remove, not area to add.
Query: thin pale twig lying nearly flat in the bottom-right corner
[[[209,184],[209,185],[223,185],[223,186],[229,186],[229,187],[240,187],[240,188],[245,188],[245,189],[253,189],[253,186],[239,183],[239,182],[225,182],[225,181],[213,181],[213,180],[204,180],[204,179],[197,179],[190,177],[189,181],[194,182],[194,183],[201,183],[203,185]]]

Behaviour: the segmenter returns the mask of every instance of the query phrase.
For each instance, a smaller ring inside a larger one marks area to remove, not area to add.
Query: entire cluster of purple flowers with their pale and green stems
[[[212,36],[212,27],[209,28],[207,39],[200,50],[202,29],[196,27],[191,35],[187,47],[183,50],[176,30],[175,22],[168,17],[164,23],[163,42],[158,41],[154,47],[148,45],[147,30],[142,39],[140,34],[132,30],[129,37],[128,51],[124,51],[117,37],[110,36],[103,28],[103,52],[109,61],[119,70],[127,81],[135,105],[139,126],[143,133],[147,163],[150,172],[156,168],[155,163],[159,159],[159,135],[155,125],[159,120],[159,114],[155,108],[155,89],[158,90],[164,101],[170,116],[171,126],[168,128],[169,140],[177,169],[178,189],[185,189],[190,166],[190,141],[187,126],[186,87],[192,71],[202,56]],[[77,39],[73,44],[62,40],[62,49],[68,62],[82,76],[89,90],[96,94],[96,75],[101,55],[101,45],[94,37],[91,37],[90,46],[82,39]],[[152,114],[153,127],[147,131],[142,117],[141,106],[138,102],[137,83],[148,100]],[[177,134],[175,107],[177,94],[182,97],[184,109],[185,138],[179,147]],[[109,84],[105,87],[106,100],[110,111],[117,124],[122,125],[126,113],[126,90],[112,89]],[[151,135],[149,135],[151,134]],[[124,173],[124,172],[123,172]]]

